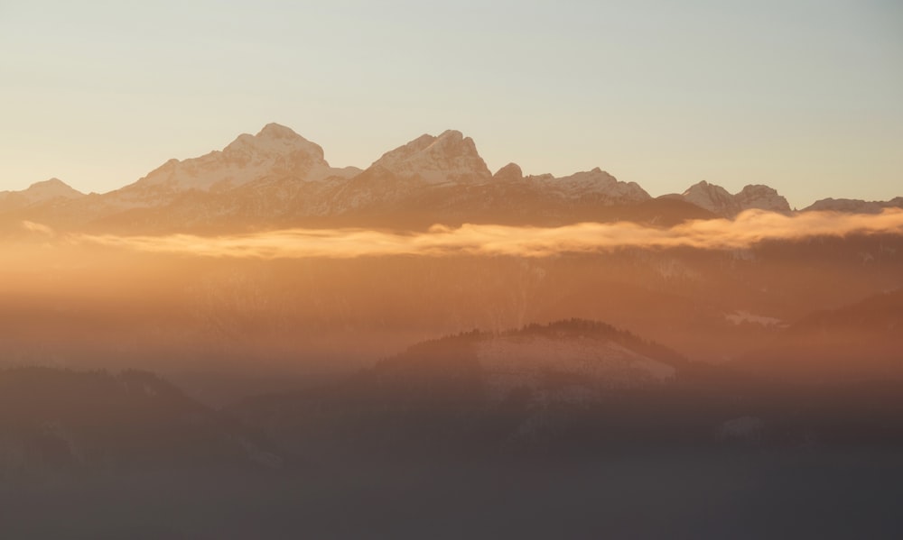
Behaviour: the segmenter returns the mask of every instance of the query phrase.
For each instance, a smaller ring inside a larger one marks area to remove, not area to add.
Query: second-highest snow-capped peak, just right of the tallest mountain
[[[402,178],[423,178],[431,184],[485,181],[492,175],[479,157],[473,139],[448,130],[438,137],[421,135],[373,163]]]

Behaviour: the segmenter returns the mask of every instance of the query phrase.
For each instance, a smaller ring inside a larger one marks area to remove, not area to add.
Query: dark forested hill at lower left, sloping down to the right
[[[0,478],[282,462],[228,417],[150,373],[0,370]]]

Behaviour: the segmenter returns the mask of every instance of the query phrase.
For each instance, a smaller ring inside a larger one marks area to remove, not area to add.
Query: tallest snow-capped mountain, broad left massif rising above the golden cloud
[[[169,160],[124,188],[6,213],[0,221],[13,227],[28,220],[63,230],[125,233],[199,230],[237,220],[240,230],[246,222],[256,226],[257,220],[272,218],[299,191],[360,172],[330,167],[318,144],[283,125],[267,124],[256,135],[239,135],[222,151]]]

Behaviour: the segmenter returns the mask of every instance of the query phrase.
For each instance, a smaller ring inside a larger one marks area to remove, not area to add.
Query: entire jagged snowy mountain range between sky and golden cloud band
[[[903,206],[823,199],[806,210],[878,212]],[[52,178],[0,192],[0,226],[23,220],[64,230],[241,231],[266,226],[388,226],[435,223],[570,224],[634,220],[671,224],[732,217],[750,208],[789,214],[777,190],[737,194],[702,181],[684,193],[651,197],[601,169],[555,178],[525,175],[515,163],[494,174],[470,137],[449,130],[387,151],[367,169],[335,168],[322,148],[279,124],[242,134],[222,151],[168,160],[132,184],[88,195]]]

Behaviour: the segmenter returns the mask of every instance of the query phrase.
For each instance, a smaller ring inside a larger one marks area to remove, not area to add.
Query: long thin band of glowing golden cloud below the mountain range
[[[24,226],[35,232],[51,233],[41,224]],[[769,240],[799,240],[853,233],[903,233],[903,210],[886,209],[877,215],[831,212],[780,215],[750,210],[733,220],[694,220],[670,228],[633,223],[583,223],[560,227],[464,224],[459,228],[434,225],[425,233],[286,229],[213,237],[191,234],[68,234],[61,239],[68,243],[138,252],[269,260],[309,257],[348,259],[384,255],[548,257],[619,248],[729,250],[749,248]]]

